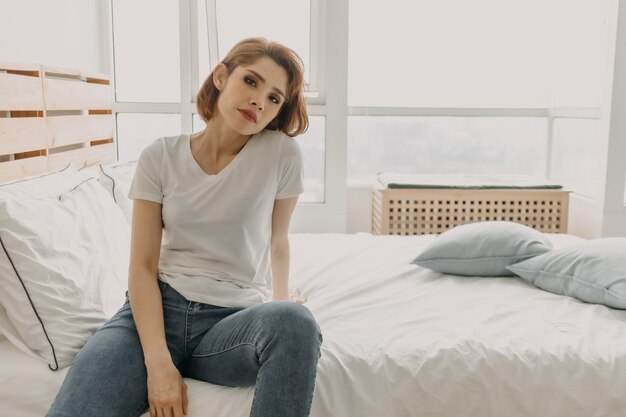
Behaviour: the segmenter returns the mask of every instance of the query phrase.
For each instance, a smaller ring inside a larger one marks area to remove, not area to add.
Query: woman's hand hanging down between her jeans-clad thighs
[[[187,415],[187,384],[171,361],[148,369],[148,402],[150,417]]]

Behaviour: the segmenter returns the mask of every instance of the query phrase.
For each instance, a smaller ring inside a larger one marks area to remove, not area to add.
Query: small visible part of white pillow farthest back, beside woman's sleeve
[[[133,200],[128,198],[130,184],[133,182],[137,161],[116,162],[100,165],[98,181],[113,197],[113,200],[122,209],[126,221],[130,224],[133,216]]]

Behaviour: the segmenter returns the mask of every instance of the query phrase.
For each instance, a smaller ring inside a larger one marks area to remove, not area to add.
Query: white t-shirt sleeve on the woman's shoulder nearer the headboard
[[[163,147],[160,140],[156,140],[144,148],[137,160],[137,168],[130,185],[128,198],[163,204],[160,175],[162,161]]]

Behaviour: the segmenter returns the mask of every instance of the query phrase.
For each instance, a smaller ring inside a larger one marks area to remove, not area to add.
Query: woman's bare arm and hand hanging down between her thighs
[[[165,340],[163,304],[157,284],[161,252],[161,204],[134,200],[128,295],[148,374],[152,417],[187,413],[187,386],[172,363]],[[165,413],[165,414],[164,414]]]

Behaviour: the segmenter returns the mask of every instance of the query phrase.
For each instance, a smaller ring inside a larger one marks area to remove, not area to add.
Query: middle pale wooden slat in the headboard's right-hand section
[[[113,138],[112,115],[54,116],[46,123],[49,148]]]

